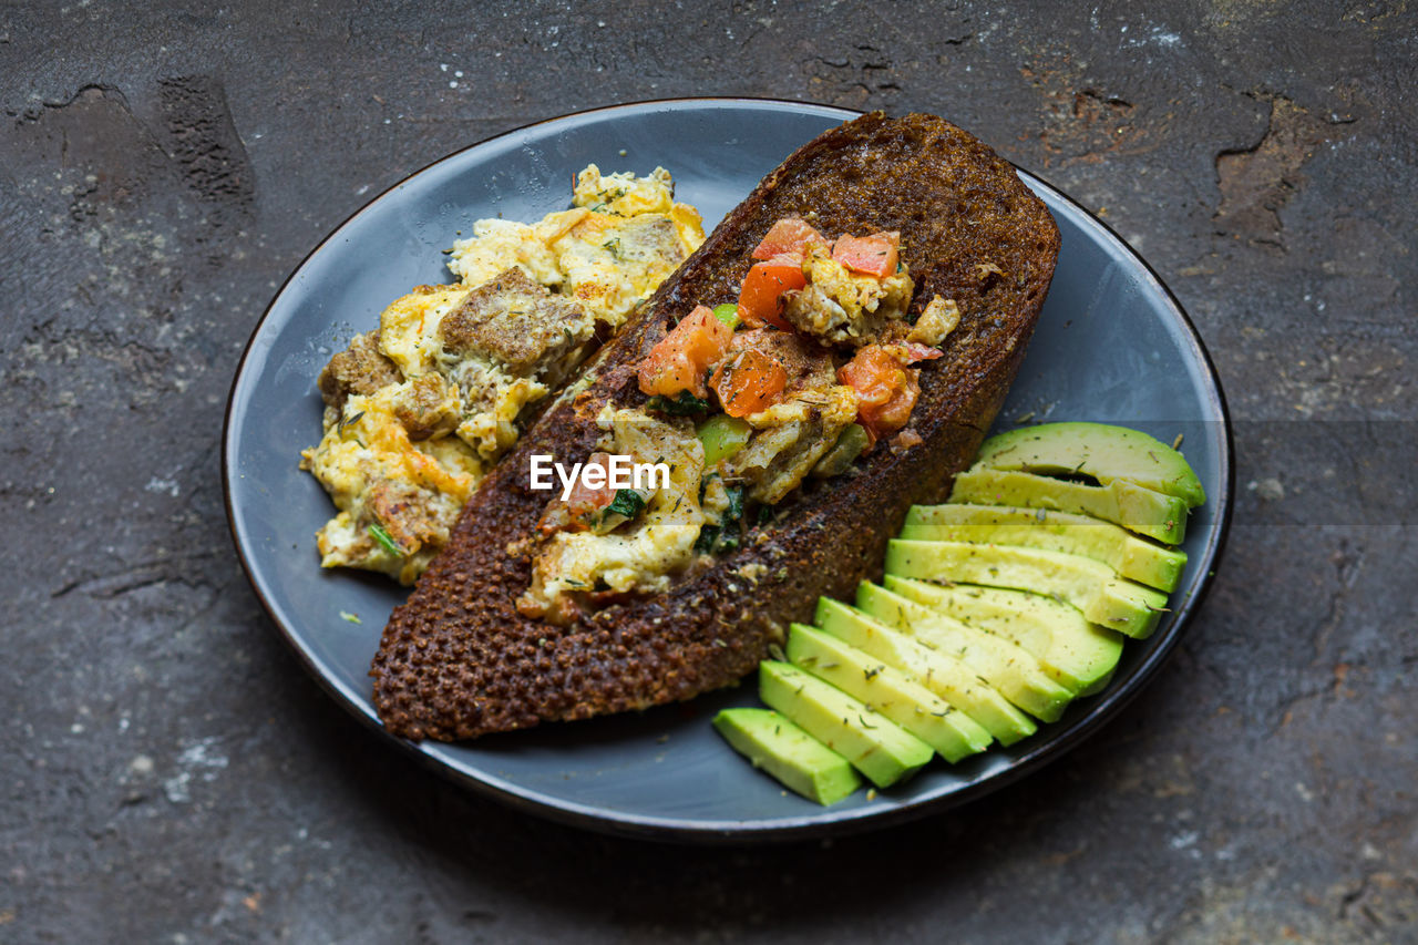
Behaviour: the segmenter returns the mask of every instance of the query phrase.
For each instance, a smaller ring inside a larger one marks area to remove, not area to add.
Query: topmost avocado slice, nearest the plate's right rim
[[[1207,501],[1201,480],[1180,453],[1141,430],[1106,423],[1044,423],[986,440],[977,467],[1045,475],[1083,474],[1103,485],[1136,482],[1176,495],[1188,508]]]

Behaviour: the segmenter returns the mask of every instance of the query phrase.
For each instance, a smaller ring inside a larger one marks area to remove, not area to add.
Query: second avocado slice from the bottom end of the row
[[[759,664],[759,698],[852,762],[878,788],[910,778],[936,755],[861,700],[787,663]]]

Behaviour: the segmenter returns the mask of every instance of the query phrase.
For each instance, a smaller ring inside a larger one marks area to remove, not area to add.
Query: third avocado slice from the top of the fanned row
[[[1088,515],[1012,505],[913,505],[900,538],[1022,545],[1100,560],[1123,578],[1176,590],[1187,553]]]

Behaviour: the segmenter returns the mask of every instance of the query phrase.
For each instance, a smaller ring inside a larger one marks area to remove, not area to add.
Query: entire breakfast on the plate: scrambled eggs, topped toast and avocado
[[[479,220],[457,284],[332,358],[302,454],[337,508],[322,565],[414,585],[370,668],[386,729],[478,738],[756,673],[764,708],[715,731],[832,805],[1100,692],[1205,495],[1137,430],[986,438],[1058,250],[1012,166],[929,115],[820,135],[708,237],[659,167],[590,165],[571,209]]]

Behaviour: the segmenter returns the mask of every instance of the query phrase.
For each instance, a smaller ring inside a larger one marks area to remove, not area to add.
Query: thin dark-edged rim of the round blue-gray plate
[[[498,778],[491,772],[482,772],[481,776],[475,776],[467,770],[461,770],[454,766],[452,762],[441,756],[444,745],[441,742],[421,742],[413,744],[404,738],[398,738],[390,734],[383,724],[379,722],[377,715],[369,711],[366,707],[359,704],[352,698],[350,694],[345,691],[339,682],[330,678],[330,674],[322,667],[320,661],[309,651],[302,643],[295,637],[292,630],[285,626],[285,623],[277,616],[277,609],[274,603],[268,599],[262,582],[257,576],[257,570],[251,560],[250,552],[241,539],[238,524],[237,524],[237,509],[233,501],[233,463],[235,461],[235,451],[233,444],[234,434],[234,411],[240,393],[242,392],[242,380],[245,379],[245,372],[252,353],[257,349],[257,341],[262,333],[271,314],[275,311],[277,305],[281,302],[286,289],[295,278],[305,270],[306,264],[322,253],[330,243],[333,243],[340,233],[359,216],[370,210],[376,203],[380,203],[396,190],[414,180],[427,170],[452,160],[469,150],[476,148],[484,148],[493,142],[510,138],[513,135],[525,133],[527,131],[540,128],[543,125],[552,125],[570,119],[581,119],[596,115],[610,115],[615,112],[635,112],[644,111],[655,106],[666,106],[668,111],[692,111],[695,106],[743,106],[743,105],[761,105],[767,106],[770,111],[777,108],[787,108],[798,112],[820,114],[824,118],[841,118],[842,121],[849,121],[865,112],[851,108],[842,108],[838,105],[824,105],[821,102],[808,102],[801,99],[788,98],[771,98],[771,96],[725,96],[725,95],[702,95],[702,96],[675,96],[675,98],[657,98],[657,99],[640,99],[632,102],[621,102],[614,105],[603,105],[597,108],[579,109],[574,112],[567,112],[563,115],[554,115],[550,118],[537,119],[519,125],[516,128],[509,128],[496,135],[482,138],[472,142],[464,148],[452,150],[435,160],[431,160],[421,167],[410,172],[404,177],[398,179],[389,187],[383,189],[367,201],[360,204],[356,210],[340,220],[322,240],[319,240],[309,253],[306,253],[299,262],[291,270],[281,285],[277,288],[271,301],[267,304],[251,329],[245,345],[242,346],[241,356],[237,360],[235,370],[233,373],[231,389],[227,394],[227,404],[223,414],[223,429],[221,429],[221,491],[223,491],[223,505],[227,515],[227,526],[231,534],[233,545],[237,551],[237,559],[241,565],[241,570],[247,578],[247,583],[255,593],[257,600],[261,603],[269,621],[275,626],[281,639],[286,646],[295,653],[301,661],[305,671],[315,678],[325,692],[333,698],[342,708],[345,708],[350,715],[363,722],[367,728],[379,732],[387,744],[393,744],[403,756],[411,758],[418,762],[425,769],[432,769],[434,772],[452,779],[462,788],[469,788],[474,792],[491,797],[499,803],[503,803],[522,813],[536,814],[553,822],[584,827],[596,830],[598,833],[608,833],[623,837],[672,841],[672,843],[703,843],[703,844],[749,844],[749,843],[781,843],[794,840],[818,839],[825,836],[845,836],[849,833],[862,833],[866,830],[875,830],[881,827],[895,826],[905,823],[908,820],[915,820],[933,813],[943,813],[946,810],[959,807],[961,805],[970,803],[978,797],[988,793],[1000,790],[1008,785],[1018,782],[1020,779],[1035,773],[1045,765],[1065,753],[1078,748],[1083,741],[1095,735],[1098,731],[1105,728],[1107,722],[1115,719],[1137,695],[1153,681],[1161,667],[1168,661],[1177,644],[1181,641],[1183,634],[1191,624],[1193,616],[1197,609],[1205,602],[1215,583],[1217,565],[1225,551],[1227,541],[1231,532],[1231,516],[1235,499],[1235,443],[1234,431],[1231,423],[1231,411],[1227,404],[1225,390],[1221,386],[1221,376],[1217,372],[1215,362],[1211,358],[1211,352],[1207,349],[1201,339],[1201,333],[1197,331],[1195,322],[1187,314],[1187,309],[1181,305],[1181,301],[1171,291],[1171,288],[1161,280],[1157,271],[1151,267],[1141,254],[1129,244],[1122,234],[1119,234],[1113,227],[1100,220],[1096,214],[1088,210],[1082,203],[1075,200],[1072,196],[1061,190],[1059,187],[1051,184],[1038,175],[1020,167],[1014,162],[1011,166],[1020,175],[1020,177],[1028,184],[1034,183],[1054,196],[1056,196],[1062,203],[1068,204],[1072,210],[1079,213],[1082,219],[1090,226],[1102,230],[1107,237],[1116,241],[1122,247],[1130,260],[1140,265],[1141,271],[1147,274],[1154,287],[1160,289],[1161,297],[1170,305],[1173,315],[1177,316],[1181,328],[1184,329],[1183,336],[1191,348],[1191,353],[1197,363],[1204,369],[1204,376],[1210,379],[1210,390],[1207,390],[1205,400],[1221,417],[1221,437],[1218,440],[1218,464],[1221,467],[1222,490],[1221,495],[1217,497],[1215,508],[1215,528],[1208,536],[1207,545],[1201,553],[1202,572],[1195,590],[1183,600],[1176,612],[1174,620],[1167,630],[1167,636],[1159,640],[1157,647],[1151,654],[1149,654],[1133,671],[1133,674],[1126,680],[1126,684],[1110,697],[1098,704],[1089,707],[1088,714],[1078,719],[1068,731],[1059,734],[1054,739],[1046,742],[1039,742],[1039,748],[1027,752],[1025,755],[1014,759],[1008,768],[994,772],[980,780],[964,785],[956,790],[946,795],[939,795],[934,797],[923,797],[919,800],[912,800],[902,803],[898,807],[891,809],[859,809],[859,810],[839,810],[832,812],[831,807],[822,807],[810,814],[794,816],[794,817],[776,817],[771,820],[688,820],[682,817],[669,816],[649,816],[649,814],[632,814],[623,812],[607,812],[604,809],[594,807],[581,802],[567,800],[562,797],[550,797],[542,795],[537,790],[519,789],[503,778]]]

